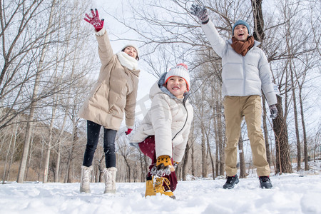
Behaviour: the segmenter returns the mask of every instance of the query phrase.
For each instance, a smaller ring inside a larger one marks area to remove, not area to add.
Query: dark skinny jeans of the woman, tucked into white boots
[[[93,155],[95,154],[101,125],[93,121],[87,121],[87,145],[83,156],[83,165],[91,166],[93,164]],[[115,138],[116,130],[103,128],[103,152],[105,153],[106,168],[116,167]]]

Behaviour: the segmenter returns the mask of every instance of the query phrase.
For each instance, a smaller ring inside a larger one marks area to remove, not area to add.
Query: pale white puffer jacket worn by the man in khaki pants
[[[255,41],[253,48],[242,56],[230,46],[232,39],[225,41],[220,37],[212,21],[201,26],[213,50],[222,58],[223,96],[261,96],[263,90],[269,105],[277,103],[267,58],[257,47],[260,43]]]

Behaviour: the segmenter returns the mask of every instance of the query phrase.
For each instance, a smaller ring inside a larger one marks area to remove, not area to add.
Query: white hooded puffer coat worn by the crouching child
[[[173,161],[180,162],[190,133],[193,107],[187,96],[178,99],[163,86],[165,74],[151,88],[151,108],[131,138],[131,145],[155,136],[156,157],[170,156]]]

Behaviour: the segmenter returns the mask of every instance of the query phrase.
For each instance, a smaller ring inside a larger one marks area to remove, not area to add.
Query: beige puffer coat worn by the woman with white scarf
[[[126,126],[135,122],[138,76],[140,70],[121,65],[113,54],[108,34],[97,36],[101,70],[96,84],[78,112],[78,116],[118,131],[126,115]]]

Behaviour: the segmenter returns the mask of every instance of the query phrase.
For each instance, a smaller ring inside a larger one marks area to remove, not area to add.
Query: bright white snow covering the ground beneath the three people
[[[223,179],[181,181],[176,200],[144,198],[145,183],[118,183],[115,195],[103,194],[103,183],[91,183],[90,194],[78,193],[79,183],[7,183],[0,185],[0,213],[321,213],[320,163],[305,175],[271,176],[270,190],[254,177],[231,190]]]

